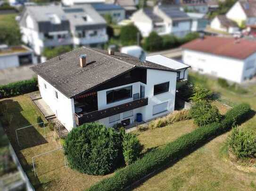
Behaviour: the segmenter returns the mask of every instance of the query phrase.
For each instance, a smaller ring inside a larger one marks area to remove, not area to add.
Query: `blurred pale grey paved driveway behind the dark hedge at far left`
[[[36,76],[35,73],[30,69],[31,66],[33,65],[0,69],[0,85],[31,79],[32,77]]]

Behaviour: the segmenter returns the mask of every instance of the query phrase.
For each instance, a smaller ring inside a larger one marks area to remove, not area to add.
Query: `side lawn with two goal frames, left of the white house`
[[[18,131],[18,137],[22,147],[16,142],[15,130],[20,127],[37,123],[37,116],[40,113],[34,107],[29,98],[29,94],[0,99],[0,104],[7,104],[8,111],[0,116],[4,123],[4,129],[8,134],[17,156],[28,175],[34,188],[39,191],[82,191],[89,188],[107,176],[89,176],[76,172],[70,168],[65,168],[64,154],[56,151],[48,155],[35,158],[35,168],[37,177],[32,171],[32,157],[59,148],[61,145],[55,141],[52,131],[46,128],[46,138],[43,137],[43,130],[38,126]],[[11,124],[4,122],[8,114],[13,115]]]

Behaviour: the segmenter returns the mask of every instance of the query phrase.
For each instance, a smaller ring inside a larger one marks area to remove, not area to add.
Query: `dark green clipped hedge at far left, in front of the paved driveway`
[[[0,92],[4,98],[37,91],[37,78],[23,80],[7,85],[0,85]]]

